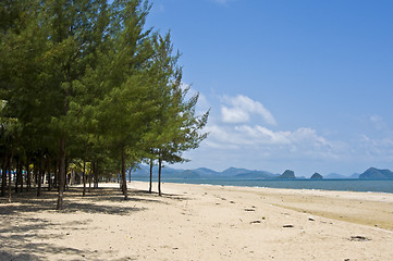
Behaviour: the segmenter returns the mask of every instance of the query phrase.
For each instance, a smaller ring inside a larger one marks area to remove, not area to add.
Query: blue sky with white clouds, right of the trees
[[[393,1],[151,0],[209,136],[177,169],[393,170]]]

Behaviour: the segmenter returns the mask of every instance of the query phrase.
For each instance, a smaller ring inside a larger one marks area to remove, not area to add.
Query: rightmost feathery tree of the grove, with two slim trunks
[[[186,99],[189,88],[182,88],[182,70],[177,66],[179,52],[173,55],[171,35],[155,35],[155,120],[144,136],[150,163],[150,187],[152,164],[158,160],[158,190],[161,196],[162,162],[183,162],[182,152],[195,149],[207,137],[200,130],[205,127],[209,112],[201,116],[195,114],[198,94]]]

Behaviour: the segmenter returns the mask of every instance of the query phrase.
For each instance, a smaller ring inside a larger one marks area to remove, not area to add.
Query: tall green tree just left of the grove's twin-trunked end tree
[[[125,169],[131,151],[137,147],[150,121],[150,58],[152,49],[144,32],[150,7],[143,1],[114,1],[113,47],[102,82],[106,95],[95,109],[99,135],[112,156],[121,159],[122,190],[127,199]],[[115,126],[115,127],[114,127]],[[135,149],[134,149],[135,150]]]

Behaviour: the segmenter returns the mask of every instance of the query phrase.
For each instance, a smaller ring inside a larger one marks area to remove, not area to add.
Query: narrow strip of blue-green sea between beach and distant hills
[[[148,179],[134,179],[147,182]],[[153,179],[157,182],[157,178]],[[224,178],[162,178],[163,183],[206,184],[238,187],[269,187],[340,191],[393,194],[393,181],[370,179],[224,179]]]

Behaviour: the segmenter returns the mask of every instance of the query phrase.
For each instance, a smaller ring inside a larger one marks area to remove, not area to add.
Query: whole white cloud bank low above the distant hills
[[[321,135],[312,127],[271,127],[277,125],[273,115],[260,102],[242,95],[201,96],[200,105],[212,108],[204,129],[210,135],[199,149],[189,152],[193,161],[187,167],[238,166],[277,173],[290,167],[307,176],[316,171],[352,174],[370,165],[389,169],[393,161],[391,133],[332,140],[328,139],[331,134]],[[369,126],[385,123],[379,115],[366,115],[364,121]]]

